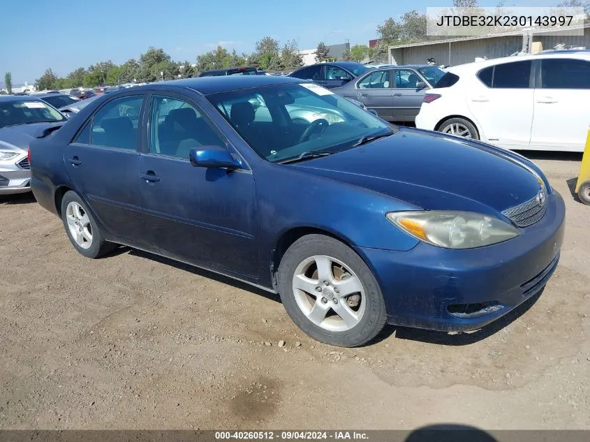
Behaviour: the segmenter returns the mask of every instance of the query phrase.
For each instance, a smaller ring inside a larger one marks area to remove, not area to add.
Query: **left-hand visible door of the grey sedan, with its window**
[[[378,70],[365,75],[356,84],[357,100],[362,101],[367,109],[377,112],[383,119],[391,121],[392,111],[392,71]]]

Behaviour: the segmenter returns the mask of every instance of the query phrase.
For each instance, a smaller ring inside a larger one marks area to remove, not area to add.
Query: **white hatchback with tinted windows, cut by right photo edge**
[[[506,149],[583,152],[590,125],[590,52],[556,51],[448,68],[416,127]]]

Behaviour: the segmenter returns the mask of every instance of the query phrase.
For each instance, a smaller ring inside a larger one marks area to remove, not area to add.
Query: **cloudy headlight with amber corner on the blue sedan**
[[[418,240],[445,249],[489,246],[519,235],[510,224],[473,212],[390,212],[386,216]]]

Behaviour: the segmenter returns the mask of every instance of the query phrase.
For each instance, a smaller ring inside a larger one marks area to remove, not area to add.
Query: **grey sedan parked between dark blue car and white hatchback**
[[[426,64],[386,66],[332,90],[362,101],[387,121],[414,121],[425,94],[443,75],[441,68]]]

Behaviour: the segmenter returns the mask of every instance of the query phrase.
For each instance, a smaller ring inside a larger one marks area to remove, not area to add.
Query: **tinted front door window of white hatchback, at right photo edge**
[[[541,60],[543,89],[590,89],[590,63],[582,60]]]

